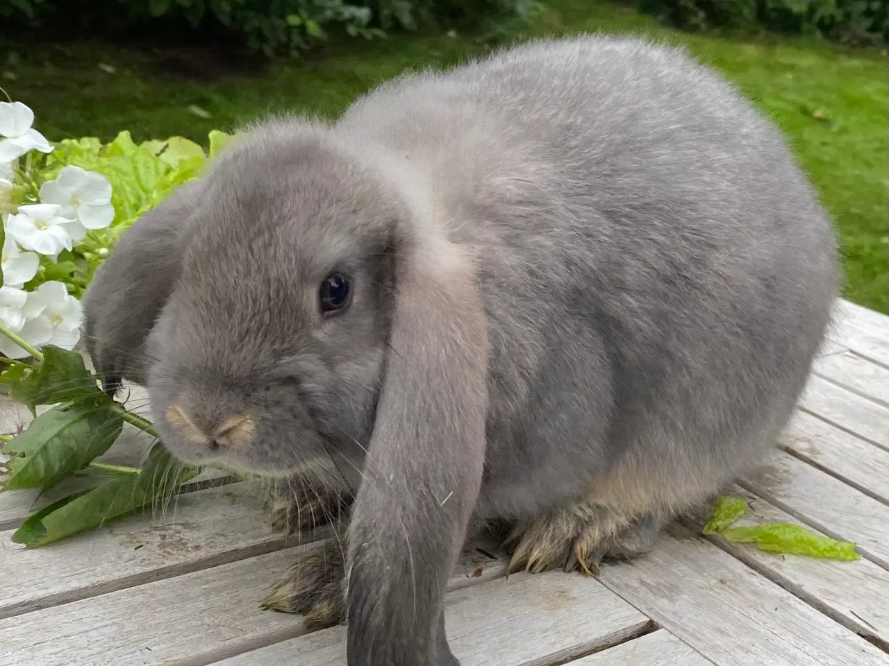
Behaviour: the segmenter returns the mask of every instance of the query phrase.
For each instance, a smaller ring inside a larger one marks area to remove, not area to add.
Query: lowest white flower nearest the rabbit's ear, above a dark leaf
[[[27,321],[19,335],[35,346],[56,345],[73,349],[80,339],[83,309],[60,281],[47,281],[28,292],[22,312]]]

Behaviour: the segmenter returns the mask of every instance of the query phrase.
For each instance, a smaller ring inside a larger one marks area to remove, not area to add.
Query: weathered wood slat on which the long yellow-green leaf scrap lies
[[[744,497],[749,504],[749,511],[737,522],[738,526],[802,524],[743,488],[733,487],[727,492]],[[703,524],[701,519],[690,522],[696,529]],[[889,572],[869,559],[837,562],[778,555],[760,551],[750,543],[731,543],[717,535],[709,539],[845,627],[869,637],[875,644],[889,647]]]

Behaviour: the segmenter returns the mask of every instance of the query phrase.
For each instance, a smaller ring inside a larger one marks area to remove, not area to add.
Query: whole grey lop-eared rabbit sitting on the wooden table
[[[505,522],[532,572],[649,550],[773,445],[838,281],[773,124],[586,36],[248,127],[116,246],[87,345],[176,456],[348,516],[272,606],[348,621],[349,666],[453,666],[468,535]]]

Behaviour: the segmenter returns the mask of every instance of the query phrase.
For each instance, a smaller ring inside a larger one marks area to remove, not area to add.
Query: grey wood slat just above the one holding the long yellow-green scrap
[[[739,484],[889,569],[889,506],[784,452]]]

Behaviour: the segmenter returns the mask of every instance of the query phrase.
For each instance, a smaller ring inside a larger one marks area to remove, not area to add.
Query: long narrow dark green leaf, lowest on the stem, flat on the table
[[[120,518],[145,506],[162,504],[199,469],[179,464],[160,444],[151,448],[139,474],[120,476],[97,488],[68,496],[29,517],[12,535],[16,543],[37,548]]]

